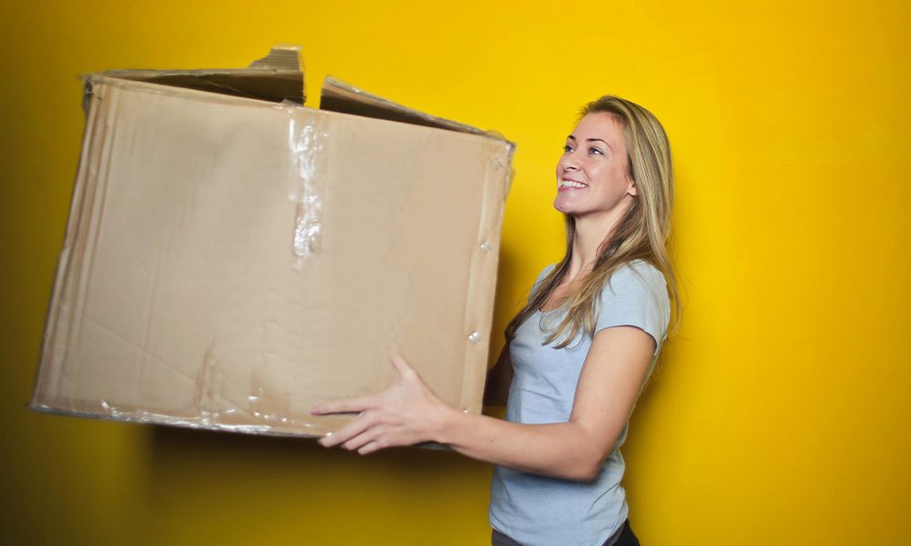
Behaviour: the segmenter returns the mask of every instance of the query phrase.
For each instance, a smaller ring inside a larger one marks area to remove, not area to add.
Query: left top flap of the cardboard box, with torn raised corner
[[[271,102],[289,100],[302,105],[305,96],[300,51],[300,45],[275,45],[268,56],[253,61],[248,68],[108,70],[87,76],[87,88],[93,78],[111,76]]]

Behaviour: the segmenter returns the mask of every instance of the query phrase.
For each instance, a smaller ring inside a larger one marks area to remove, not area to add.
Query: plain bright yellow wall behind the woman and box
[[[558,258],[573,116],[676,155],[685,319],[625,450],[645,544],[911,543],[911,8],[761,2],[8,2],[0,8],[0,542],[483,544],[490,469],[26,410],[83,126],[77,75],[331,73],[517,141],[496,328]],[[730,3],[750,4],[750,3]],[[15,7],[14,7],[15,6]]]

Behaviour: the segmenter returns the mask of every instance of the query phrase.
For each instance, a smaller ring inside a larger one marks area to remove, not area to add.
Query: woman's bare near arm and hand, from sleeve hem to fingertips
[[[362,454],[436,441],[501,466],[568,480],[593,480],[630,417],[649,368],[655,341],[634,327],[600,330],[579,375],[568,422],[527,425],[472,415],[439,399],[401,356],[390,389],[313,408],[315,414],[358,412],[322,438]]]

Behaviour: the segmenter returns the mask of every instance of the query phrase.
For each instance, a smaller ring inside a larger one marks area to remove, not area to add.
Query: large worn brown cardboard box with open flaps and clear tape
[[[322,435],[395,342],[480,410],[511,143],[333,79],[304,107],[287,48],[86,89],[33,409]]]

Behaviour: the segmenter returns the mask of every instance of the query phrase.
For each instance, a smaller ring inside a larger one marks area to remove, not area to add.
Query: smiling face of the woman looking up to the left
[[[604,112],[584,116],[557,163],[554,207],[573,217],[616,214],[636,195],[623,127]]]

